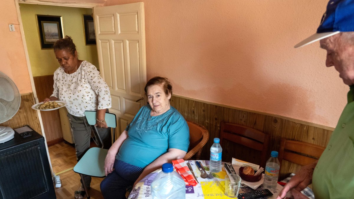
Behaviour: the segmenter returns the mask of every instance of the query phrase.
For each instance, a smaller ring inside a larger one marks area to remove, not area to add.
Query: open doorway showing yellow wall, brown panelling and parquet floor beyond
[[[61,16],[63,35],[72,37],[79,58],[98,67],[96,45],[86,45],[84,35],[83,15],[91,15],[93,12],[92,8],[20,3],[19,10],[35,91],[39,101],[52,94],[53,73],[59,67],[59,64],[55,58],[53,49],[42,49],[36,15]],[[64,142],[63,139],[63,133],[71,135],[69,121],[66,113],[61,113],[63,111],[66,112],[66,109],[60,108],[52,111],[42,111],[41,118],[48,144],[52,172],[61,176],[62,188],[56,188],[56,193],[59,191],[61,194],[58,195],[57,193],[57,198],[67,198],[67,194],[70,194],[70,198],[72,198],[74,191],[80,186],[80,177],[72,170],[76,164],[75,148],[71,144],[73,141],[65,139],[67,142]],[[99,180],[102,179],[99,178]],[[98,190],[97,192],[99,192],[99,180],[96,183],[98,187],[96,185],[93,187],[93,189]]]

